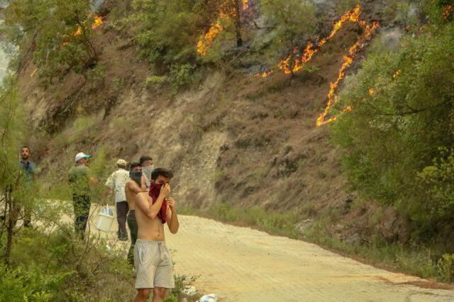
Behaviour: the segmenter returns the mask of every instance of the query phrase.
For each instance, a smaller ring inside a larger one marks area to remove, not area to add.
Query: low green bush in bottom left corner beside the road
[[[11,269],[0,267],[3,301],[126,301],[135,294],[124,250],[93,234],[79,240],[72,224],[28,229],[16,242]]]

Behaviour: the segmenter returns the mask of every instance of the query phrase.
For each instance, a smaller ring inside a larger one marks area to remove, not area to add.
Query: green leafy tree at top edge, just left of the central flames
[[[196,43],[203,26],[201,1],[135,0],[133,23],[139,55],[169,72],[173,65],[196,65]]]

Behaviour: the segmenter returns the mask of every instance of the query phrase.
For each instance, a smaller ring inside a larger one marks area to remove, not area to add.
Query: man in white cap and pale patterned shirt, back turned
[[[126,170],[126,160],[117,160],[116,170],[107,179],[104,184],[106,189],[105,202],[108,203],[109,195],[114,192],[115,206],[116,206],[116,220],[118,222],[118,240],[128,240],[128,233],[126,233],[126,216],[128,215],[128,202],[126,201],[125,185],[129,180],[129,172]]]

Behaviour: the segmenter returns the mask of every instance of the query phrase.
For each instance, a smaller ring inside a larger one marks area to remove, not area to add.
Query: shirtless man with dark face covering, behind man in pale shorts
[[[128,252],[128,262],[134,264],[134,245],[137,240],[137,221],[135,220],[135,195],[140,192],[148,192],[148,189],[140,187],[140,179],[142,178],[142,167],[138,162],[131,162],[129,165],[129,177],[126,181],[125,194],[128,201],[129,213],[127,217],[128,228],[131,237],[131,246]]]

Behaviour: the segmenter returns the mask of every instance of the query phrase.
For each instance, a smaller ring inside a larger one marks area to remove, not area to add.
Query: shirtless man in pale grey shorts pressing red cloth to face
[[[175,200],[167,197],[172,177],[167,169],[155,169],[151,174],[149,194],[135,196],[135,218],[139,228],[134,247],[135,301],[146,301],[151,289],[154,302],[164,301],[165,291],[175,288],[172,257],[164,237],[164,223],[172,234],[179,228]]]

